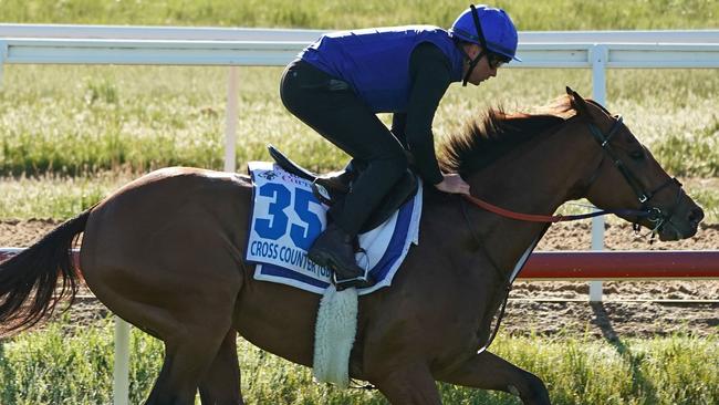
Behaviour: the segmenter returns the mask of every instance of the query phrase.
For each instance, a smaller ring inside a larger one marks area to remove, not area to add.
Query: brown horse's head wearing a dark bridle
[[[585,135],[596,139],[596,153],[601,154],[586,179],[584,197],[602,209],[626,209],[617,215],[652,229],[660,240],[692,237],[704,210],[687,196],[681,183],[661,168],[621,116],[612,116],[570,87],[566,92],[577,120],[586,124],[582,126]]]

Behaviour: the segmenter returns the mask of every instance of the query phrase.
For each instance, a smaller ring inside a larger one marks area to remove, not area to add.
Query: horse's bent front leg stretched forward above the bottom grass
[[[439,375],[438,380],[456,385],[503,391],[522,398],[524,405],[550,404],[546,387],[538,376],[488,351],[472,356],[457,370]]]

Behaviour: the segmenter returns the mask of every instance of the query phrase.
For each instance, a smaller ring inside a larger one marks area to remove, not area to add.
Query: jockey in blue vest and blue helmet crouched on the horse
[[[479,85],[517,51],[517,29],[501,9],[470,6],[449,30],[377,28],[323,35],[282,75],[285,107],[361,166],[341,210],[309,251],[334,271],[337,289],[371,284],[357,266],[357,232],[405,175],[414,156],[426,184],[469,194],[458,174],[441,173],[431,123],[449,84]],[[393,113],[392,132],[377,113]]]

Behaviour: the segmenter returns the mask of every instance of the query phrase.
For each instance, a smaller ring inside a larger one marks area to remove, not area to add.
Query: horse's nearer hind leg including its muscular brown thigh
[[[198,250],[211,251],[202,248]],[[103,268],[87,280],[95,281],[93,291],[111,310],[165,343],[165,361],[146,404],[192,405],[204,375],[218,353],[227,352],[223,342],[242,277],[235,256],[221,250],[205,257],[189,249],[163,251],[175,256]],[[113,277],[123,282],[110,287]]]

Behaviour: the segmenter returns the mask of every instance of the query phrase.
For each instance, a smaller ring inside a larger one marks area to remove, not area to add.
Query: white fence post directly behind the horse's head
[[[592,98],[606,104],[606,61],[609,52],[606,45],[590,48],[592,63]],[[592,218],[592,250],[604,249],[604,217]],[[602,302],[602,281],[590,281],[590,302]]]

